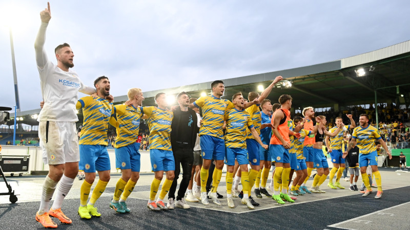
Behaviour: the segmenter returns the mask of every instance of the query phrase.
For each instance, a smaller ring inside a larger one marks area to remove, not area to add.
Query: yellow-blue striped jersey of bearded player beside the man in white
[[[87,96],[80,98],[75,106],[83,108],[83,129],[79,140],[80,145],[108,145],[108,121],[115,112],[112,102],[103,98]]]

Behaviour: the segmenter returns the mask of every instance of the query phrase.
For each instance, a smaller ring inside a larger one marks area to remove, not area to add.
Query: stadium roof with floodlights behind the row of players
[[[410,104],[410,41],[327,63],[224,79],[226,91],[222,98],[231,99],[238,91],[245,97],[251,91],[260,92],[258,86],[267,87],[277,75],[282,75],[292,86],[277,84],[268,99],[276,103],[281,94],[290,94],[294,108],[337,107],[339,110],[348,105],[374,103],[375,91],[378,103]],[[176,95],[181,91],[199,98],[202,92],[211,93],[211,82],[144,92],[143,104],[154,105],[154,96],[158,92]],[[127,95],[116,96],[114,104],[126,100]],[[38,123],[34,119],[30,121],[29,115],[39,111],[21,111],[17,116],[25,117],[22,123],[35,125]],[[82,120],[81,112],[79,119]]]

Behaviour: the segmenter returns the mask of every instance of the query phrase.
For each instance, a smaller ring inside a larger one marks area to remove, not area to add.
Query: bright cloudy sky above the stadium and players
[[[111,94],[165,89],[341,59],[410,39],[409,1],[51,1],[46,51],[67,42],[73,68]],[[15,104],[13,29],[21,110],[42,100],[34,58],[47,2],[0,3],[0,106]],[[80,95],[81,96],[81,95]]]

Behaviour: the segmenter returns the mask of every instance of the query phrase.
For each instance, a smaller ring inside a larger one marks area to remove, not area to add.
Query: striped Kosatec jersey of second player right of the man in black
[[[225,146],[228,148],[247,148],[247,129],[253,127],[249,113],[233,108],[226,111],[224,119],[227,121]]]

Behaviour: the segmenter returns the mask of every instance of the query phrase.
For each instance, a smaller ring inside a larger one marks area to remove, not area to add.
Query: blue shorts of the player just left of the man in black
[[[171,150],[150,149],[150,158],[153,171],[175,170],[174,154]]]

